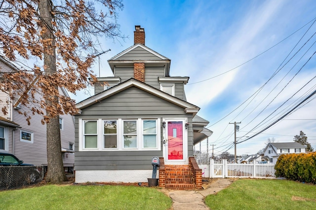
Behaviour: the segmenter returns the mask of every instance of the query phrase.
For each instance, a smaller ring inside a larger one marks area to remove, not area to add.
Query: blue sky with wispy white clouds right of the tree
[[[125,0],[123,4],[118,23],[121,33],[129,38],[115,43],[103,40],[102,50],[111,51],[100,57],[100,75],[112,76],[107,60],[133,45],[134,26],[141,25],[146,46],[171,59],[171,76],[190,77],[185,87],[187,99],[199,106],[198,115],[210,122],[208,129],[214,133],[209,145],[215,144],[215,154],[229,149],[234,141],[234,126],[229,123],[241,122],[237,137],[251,137],[316,90],[314,0]],[[98,62],[93,70],[99,76]],[[266,82],[256,97],[251,97]],[[93,89],[90,91],[93,94]],[[79,102],[88,96],[85,91],[75,99]],[[316,148],[315,96],[262,134],[237,144],[237,155],[255,154],[268,138],[291,142],[301,130]],[[206,151],[206,140],[201,145]],[[228,151],[234,154],[234,147]]]

